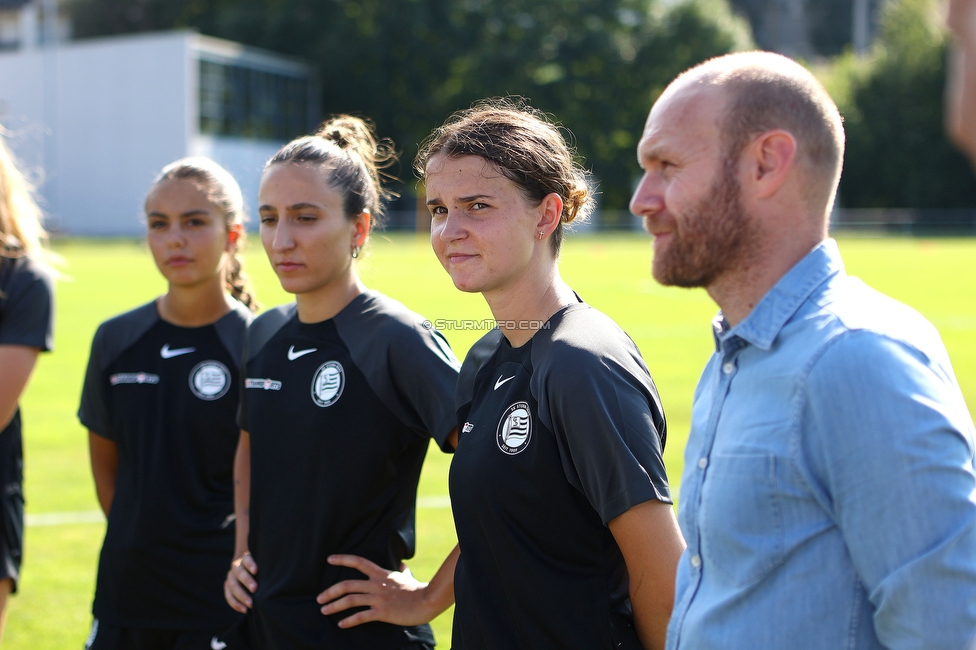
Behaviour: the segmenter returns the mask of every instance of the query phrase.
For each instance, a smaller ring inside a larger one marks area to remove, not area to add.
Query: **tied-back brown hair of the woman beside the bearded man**
[[[414,171],[426,178],[427,163],[438,153],[457,158],[479,156],[492,164],[522,192],[539,203],[549,194],[563,200],[551,246],[559,256],[563,224],[585,221],[595,201],[589,174],[560,128],[541,111],[520,99],[492,98],[458,111],[434,129],[421,144]]]

